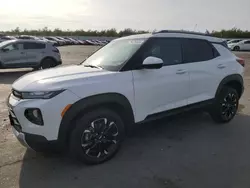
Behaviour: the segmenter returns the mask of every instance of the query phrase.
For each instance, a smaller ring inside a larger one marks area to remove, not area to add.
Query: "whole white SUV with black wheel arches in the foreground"
[[[101,163],[114,156],[134,123],[197,107],[229,122],[243,93],[243,70],[244,60],[223,40],[203,34],[119,38],[81,65],[16,80],[10,121],[27,147],[40,151],[54,143],[86,163]]]

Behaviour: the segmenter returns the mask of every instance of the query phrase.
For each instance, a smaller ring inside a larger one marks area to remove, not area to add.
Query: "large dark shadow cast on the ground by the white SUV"
[[[32,158],[27,151],[20,188],[246,187],[250,185],[250,116],[217,125],[187,113],[136,125],[110,161],[88,166],[66,157]]]

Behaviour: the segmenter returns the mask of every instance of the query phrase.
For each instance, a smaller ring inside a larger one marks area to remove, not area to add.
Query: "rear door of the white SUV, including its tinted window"
[[[184,62],[189,65],[190,92],[188,104],[214,98],[227,64],[214,46],[206,40],[182,39]]]

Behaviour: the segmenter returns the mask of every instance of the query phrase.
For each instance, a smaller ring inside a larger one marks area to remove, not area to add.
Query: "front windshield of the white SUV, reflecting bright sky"
[[[110,71],[119,70],[144,41],[145,39],[114,40],[92,54],[83,65],[98,66]]]

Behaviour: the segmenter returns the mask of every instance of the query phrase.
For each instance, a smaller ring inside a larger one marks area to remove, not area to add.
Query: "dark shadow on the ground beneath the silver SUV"
[[[22,71],[4,71],[0,72],[0,84],[12,84],[15,80],[21,76],[32,72],[31,70],[22,70]]]

